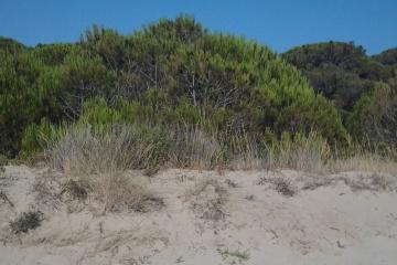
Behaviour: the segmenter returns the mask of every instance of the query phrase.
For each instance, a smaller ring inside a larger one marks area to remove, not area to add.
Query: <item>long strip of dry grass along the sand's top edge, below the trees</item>
[[[144,169],[144,174],[154,176],[162,166],[314,173],[358,170],[397,176],[393,153],[378,155],[369,147],[351,144],[341,155],[315,131],[293,136],[285,132],[270,141],[248,134],[204,132],[197,126],[160,129],[114,125],[105,131],[93,132],[89,127],[65,130],[45,152],[51,166],[76,176],[99,174],[108,169]]]

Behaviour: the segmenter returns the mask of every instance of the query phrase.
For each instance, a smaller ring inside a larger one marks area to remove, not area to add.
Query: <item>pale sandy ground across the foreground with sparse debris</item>
[[[6,167],[0,178],[0,264],[396,264],[397,178],[346,172],[170,169],[127,176],[146,211],[100,214],[45,190],[45,168]],[[61,198],[61,199],[60,199]],[[155,199],[154,199],[155,198]],[[30,209],[44,220],[13,234]]]

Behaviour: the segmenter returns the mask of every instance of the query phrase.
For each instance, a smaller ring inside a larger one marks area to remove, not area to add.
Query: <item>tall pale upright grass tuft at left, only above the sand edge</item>
[[[46,151],[52,168],[72,174],[98,174],[109,170],[147,168],[155,160],[154,144],[133,126],[115,126],[110,131],[71,129]]]

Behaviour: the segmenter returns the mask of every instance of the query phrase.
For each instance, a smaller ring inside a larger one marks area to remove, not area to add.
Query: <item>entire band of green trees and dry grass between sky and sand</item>
[[[131,35],[94,26],[73,44],[2,38],[0,153],[87,172],[358,160],[390,171],[396,57],[332,42],[277,55],[186,15]]]

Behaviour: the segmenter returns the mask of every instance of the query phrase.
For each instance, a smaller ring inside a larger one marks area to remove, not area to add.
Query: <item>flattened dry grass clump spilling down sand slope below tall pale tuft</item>
[[[108,212],[151,212],[164,206],[162,199],[133,183],[133,177],[121,171],[108,171],[71,178],[54,172],[36,178],[34,189],[43,205],[60,209],[66,205],[69,212],[81,211],[88,205],[96,214]]]

